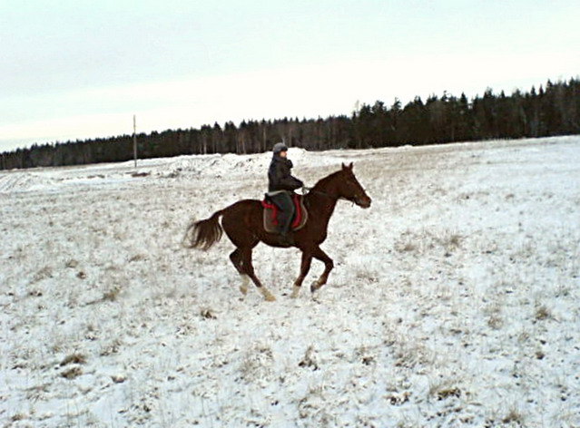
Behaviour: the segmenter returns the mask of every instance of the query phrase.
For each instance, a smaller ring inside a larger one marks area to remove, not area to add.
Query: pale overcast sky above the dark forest
[[[0,151],[580,75],[568,1],[0,0]]]

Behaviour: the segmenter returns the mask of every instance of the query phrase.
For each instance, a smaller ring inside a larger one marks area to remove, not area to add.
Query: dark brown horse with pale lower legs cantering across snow
[[[299,248],[302,251],[300,276],[294,282],[290,297],[299,296],[302,282],[310,270],[312,258],[319,259],[325,267],[319,279],[310,286],[311,293],[315,293],[327,283],[330,271],[334,268],[332,259],[320,248],[320,244],[327,238],[329,219],[339,199],[347,199],[363,209],[370,207],[371,199],[355,177],[352,162],[349,165],[343,163],[341,170],[319,180],[304,195],[304,205],[308,209],[309,217],[302,229],[293,232],[292,245],[280,243],[278,234],[268,233],[264,229],[263,208],[261,201],[256,199],[240,200],[215,212],[209,219],[192,221],[186,229],[184,245],[188,248],[207,250],[220,240],[225,231],[236,247],[230,254],[230,259],[241,275],[241,293],[243,295],[248,293],[251,279],[267,301],[274,301],[276,298],[256,277],[251,263],[252,249],[260,242],[270,247]]]

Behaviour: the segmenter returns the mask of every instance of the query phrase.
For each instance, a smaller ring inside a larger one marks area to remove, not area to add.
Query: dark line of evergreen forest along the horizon
[[[487,89],[468,100],[444,92],[405,106],[377,101],[351,115],[203,125],[137,135],[140,159],[184,154],[257,153],[277,141],[310,151],[404,144],[516,139],[580,133],[580,80],[552,83],[510,95]],[[78,165],[133,159],[133,136],[34,144],[0,155],[0,169]]]

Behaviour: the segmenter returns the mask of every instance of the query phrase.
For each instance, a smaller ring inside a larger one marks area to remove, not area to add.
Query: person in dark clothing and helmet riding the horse
[[[294,214],[294,203],[291,192],[300,189],[304,183],[292,177],[292,161],[288,159],[288,147],[283,142],[277,142],[272,149],[274,156],[268,170],[268,196],[280,208],[280,235],[283,244],[292,245],[289,235],[290,222]]]

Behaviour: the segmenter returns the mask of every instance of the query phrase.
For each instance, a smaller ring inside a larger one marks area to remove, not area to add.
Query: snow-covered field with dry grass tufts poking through
[[[181,247],[267,153],[0,172],[0,425],[580,426],[580,137],[290,159],[373,205],[339,202],[314,298],[256,248],[273,303],[227,238]]]

